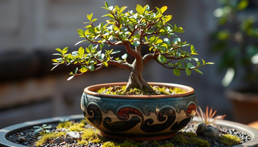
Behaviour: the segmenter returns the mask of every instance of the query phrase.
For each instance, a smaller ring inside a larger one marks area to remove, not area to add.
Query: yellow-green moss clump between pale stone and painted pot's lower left
[[[106,137],[103,137],[99,134],[99,131],[94,129],[85,129],[82,134],[82,140],[92,142],[92,143],[102,143],[106,141]]]

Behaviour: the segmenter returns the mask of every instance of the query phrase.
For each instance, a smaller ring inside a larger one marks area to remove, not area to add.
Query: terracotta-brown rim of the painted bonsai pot
[[[154,86],[177,87],[177,88],[184,89],[186,92],[185,93],[179,93],[179,94],[155,95],[155,96],[123,96],[123,95],[112,95],[112,94],[100,94],[100,93],[93,92],[96,89],[100,89],[102,87],[122,86],[122,85],[126,85],[126,84],[127,84],[127,82],[105,83],[105,84],[92,85],[92,86],[86,87],[84,89],[84,92],[87,93],[87,94],[91,94],[93,96],[98,96],[98,97],[134,98],[134,99],[177,98],[177,97],[188,96],[189,94],[194,93],[194,89],[189,87],[189,86],[186,86],[186,85],[172,84],[172,83],[159,83],[159,82],[148,82],[148,84],[154,85]]]

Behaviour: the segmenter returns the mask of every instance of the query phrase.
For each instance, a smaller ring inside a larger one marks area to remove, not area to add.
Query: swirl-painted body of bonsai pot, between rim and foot
[[[105,133],[160,135],[184,128],[196,113],[195,93],[178,98],[117,99],[83,93],[86,120]]]

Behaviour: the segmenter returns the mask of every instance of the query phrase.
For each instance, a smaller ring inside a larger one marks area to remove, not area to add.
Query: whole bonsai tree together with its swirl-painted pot
[[[144,64],[156,60],[179,76],[181,71],[190,75],[192,70],[203,74],[197,68],[213,63],[192,57],[198,55],[193,45],[189,51],[184,51],[183,47],[190,44],[180,38],[173,41],[160,38],[184,32],[183,28],[168,23],[172,15],[164,15],[167,6],[156,7],[157,12],[154,12],[148,5],[137,5],[134,12],[126,11],[126,6],[113,7],[105,2],[102,8],[108,12],[102,16],[108,17],[106,24],[95,25],[97,19],[90,14],[87,15],[89,22],[85,22],[86,30],[77,30],[84,39],[75,45],[88,41],[96,46],[79,47],[72,53],[67,53],[68,47],[57,48],[60,53],[54,55],[60,58],[52,60],[53,68],[60,64],[78,65],[67,80],[109,65],[127,69],[130,73],[127,83],[100,84],[84,89],[81,109],[86,120],[103,136],[111,138],[158,140],[173,136],[195,116],[197,99],[194,90],[179,84],[146,82],[142,77]],[[135,60],[128,63],[127,54],[113,58],[112,55],[120,51],[102,50],[105,44],[124,48]],[[142,56],[142,46],[149,46],[150,53]]]

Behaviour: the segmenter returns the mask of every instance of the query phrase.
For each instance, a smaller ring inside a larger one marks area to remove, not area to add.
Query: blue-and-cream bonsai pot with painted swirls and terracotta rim
[[[186,91],[170,95],[124,96],[94,92],[102,87],[126,84],[107,83],[84,89],[83,115],[103,136],[137,141],[166,139],[187,126],[195,116],[197,99],[193,88],[185,85],[149,83]]]

